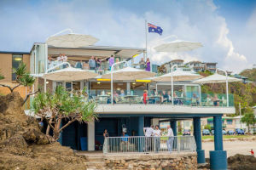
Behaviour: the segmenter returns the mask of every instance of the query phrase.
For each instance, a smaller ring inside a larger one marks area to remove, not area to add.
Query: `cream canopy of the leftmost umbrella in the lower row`
[[[53,81],[79,81],[96,77],[97,74],[73,67],[67,67],[59,71],[45,73],[43,78]]]

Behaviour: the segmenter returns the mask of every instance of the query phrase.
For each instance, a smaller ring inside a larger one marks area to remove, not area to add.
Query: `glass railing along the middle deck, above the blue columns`
[[[97,92],[102,91],[101,94]],[[226,107],[226,94],[182,94],[175,93],[173,105],[189,106],[213,106]],[[110,90],[91,90],[90,99],[94,99],[99,105],[111,105]],[[159,92],[153,94],[153,91],[143,96],[143,90],[131,90],[130,92],[122,90],[120,93],[113,93],[113,105],[172,105],[170,92]],[[229,106],[234,106],[234,96],[229,94]]]

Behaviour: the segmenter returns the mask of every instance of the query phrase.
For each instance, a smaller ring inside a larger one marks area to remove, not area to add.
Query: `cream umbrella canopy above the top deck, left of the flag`
[[[55,47],[61,48],[80,48],[93,45],[95,42],[98,41],[99,39],[90,35],[70,33],[61,36],[49,37],[46,43],[48,45],[53,45]]]

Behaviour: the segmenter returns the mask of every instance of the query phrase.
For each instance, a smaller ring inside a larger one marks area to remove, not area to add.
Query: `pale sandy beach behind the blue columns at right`
[[[209,151],[214,150],[213,142],[203,142],[202,149],[205,150],[206,158],[209,157]],[[256,141],[224,141],[224,150],[227,150],[228,157],[236,154],[250,155],[250,150],[256,151]]]

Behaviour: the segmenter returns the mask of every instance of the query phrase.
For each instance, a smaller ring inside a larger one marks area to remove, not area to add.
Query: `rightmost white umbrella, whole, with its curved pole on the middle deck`
[[[229,82],[241,82],[241,79],[234,78],[234,77],[228,77],[227,71],[224,71],[226,76],[220,75],[217,73],[217,71],[224,71],[222,69],[217,69],[216,73],[214,73],[212,76],[204,77],[199,80],[195,80],[194,83],[198,84],[207,84],[207,83],[226,83],[226,94],[227,94],[227,106],[229,106]]]

